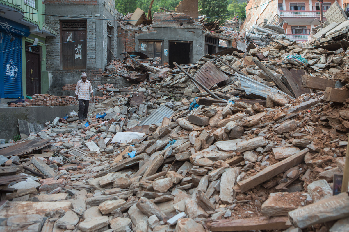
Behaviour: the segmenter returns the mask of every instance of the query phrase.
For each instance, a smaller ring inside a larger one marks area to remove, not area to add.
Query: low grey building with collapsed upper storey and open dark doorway
[[[155,12],[152,24],[135,27],[127,24],[126,15],[118,29],[119,57],[139,51],[149,58],[160,57],[164,65],[195,63],[205,54],[237,47],[232,35],[206,31],[200,22],[183,13]]]

